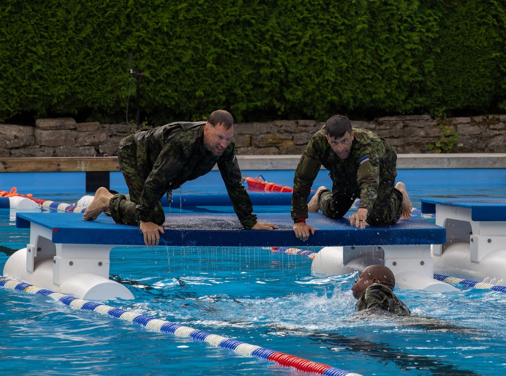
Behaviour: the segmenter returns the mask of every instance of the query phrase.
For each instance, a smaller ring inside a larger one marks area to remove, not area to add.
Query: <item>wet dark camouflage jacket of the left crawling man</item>
[[[144,189],[138,215],[150,222],[150,212],[167,191],[207,174],[218,163],[234,211],[244,228],[257,223],[249,195],[241,182],[241,170],[232,140],[222,155],[204,149],[205,122],[175,122],[134,135],[139,176]]]

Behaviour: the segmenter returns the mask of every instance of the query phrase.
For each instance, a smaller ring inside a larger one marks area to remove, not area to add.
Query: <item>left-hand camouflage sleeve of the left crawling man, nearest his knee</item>
[[[183,169],[191,152],[185,143],[175,137],[164,145],[153,169],[149,173],[141,193],[137,214],[143,222],[153,222],[153,208],[168,190],[168,184]]]

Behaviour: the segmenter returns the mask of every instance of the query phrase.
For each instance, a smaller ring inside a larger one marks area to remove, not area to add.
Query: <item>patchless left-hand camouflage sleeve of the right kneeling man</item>
[[[318,134],[317,134],[318,135]],[[291,219],[308,218],[308,197],[313,182],[320,171],[323,150],[317,135],[309,141],[306,150],[299,160],[293,177],[293,193],[291,196]]]

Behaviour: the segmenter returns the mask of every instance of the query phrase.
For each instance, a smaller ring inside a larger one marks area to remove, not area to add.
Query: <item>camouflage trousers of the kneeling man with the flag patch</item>
[[[318,207],[325,217],[340,219],[360,196],[360,188],[332,186],[318,194]],[[395,188],[394,180],[379,183],[374,205],[368,209],[366,222],[370,226],[388,226],[397,223],[401,217],[402,192]]]

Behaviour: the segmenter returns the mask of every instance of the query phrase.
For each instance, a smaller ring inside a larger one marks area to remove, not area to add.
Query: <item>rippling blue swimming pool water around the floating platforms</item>
[[[401,173],[415,206],[426,195],[505,193],[497,171],[494,180],[483,171],[459,171],[457,183],[446,172],[445,181],[432,184],[424,172]],[[287,184],[279,172],[263,175]],[[320,182],[327,183],[325,176],[315,185]],[[37,196],[70,203],[79,197],[46,193]],[[2,267],[11,249],[28,241],[12,220],[0,210]],[[363,375],[500,375],[506,369],[503,293],[462,286],[452,293],[396,290],[414,317],[368,317],[354,312],[354,275],[322,278],[310,266],[306,256],[259,248],[117,247],[111,277],[136,299],[106,303]],[[44,296],[7,288],[0,296],[1,374],[307,374]]]

